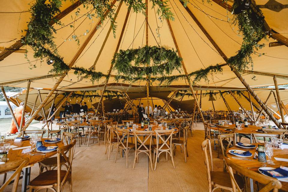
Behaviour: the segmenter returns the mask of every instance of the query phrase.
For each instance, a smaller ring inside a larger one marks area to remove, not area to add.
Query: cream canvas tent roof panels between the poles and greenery
[[[120,1],[117,1],[115,4],[116,10],[119,8],[119,2]],[[276,4],[287,3],[285,0],[277,0],[275,2]],[[29,22],[31,17],[30,13],[27,11],[29,10],[28,3],[31,3],[31,0],[11,0],[1,2],[0,47],[11,46],[13,43],[15,43],[15,41],[19,40],[22,35],[25,35],[22,30],[24,31],[27,29],[27,22]],[[174,14],[175,21],[170,21],[170,23],[179,46],[179,51],[181,52],[184,64],[187,68],[187,72],[190,73],[192,71],[208,67],[209,65],[225,63],[224,59],[220,56],[208,38],[206,38],[201,29],[199,29],[180,1],[169,0],[167,3],[170,6],[170,10]],[[228,1],[228,3],[232,4],[231,1]],[[269,4],[268,0],[256,0],[256,3],[260,6],[268,25],[274,31],[288,37],[288,26],[286,25],[288,9],[283,8],[277,11],[271,10],[269,6],[266,6]],[[64,10],[70,5],[70,1],[63,2],[61,10]],[[265,8],[265,6],[268,8]],[[71,19],[71,16],[75,16],[75,11],[72,11],[61,19],[61,22],[68,26],[54,26],[57,30],[57,34],[55,34],[55,42],[58,46],[59,54],[64,57],[64,61],[67,64],[69,64],[76,52],[84,43],[85,39],[88,37],[89,33],[84,35],[86,30],[93,29],[98,22],[97,18],[88,19],[86,16],[81,17],[81,15],[87,13],[89,9],[86,10],[86,8],[83,8],[82,5],[79,7],[80,16],[77,17],[77,20],[74,22],[74,32],[73,28],[71,28],[68,24],[74,21],[74,19]],[[233,16],[229,11],[214,2],[211,2],[211,4],[202,4],[201,0],[190,0],[187,7],[196,16],[202,26],[207,30],[207,32],[211,35],[228,58],[236,54],[235,52],[240,49],[242,37],[241,34],[238,34],[237,26],[234,26],[231,23],[230,19],[232,19]],[[148,32],[148,45],[154,46],[157,45],[158,42],[158,44],[162,46],[167,46],[176,50],[167,21],[159,19],[155,9],[152,8],[151,3],[148,3],[148,23],[149,28],[151,28],[151,30],[149,29]],[[113,37],[112,32],[110,32],[107,36],[110,28],[110,21],[107,19],[104,20],[103,25],[93,35],[74,66],[84,68],[90,67],[92,70],[101,71],[104,74],[107,74],[107,71],[111,65],[111,59],[116,50],[116,45],[119,41],[119,36],[125,21],[127,10],[128,6],[124,3],[119,8],[119,13],[116,17],[116,38]],[[124,29],[124,35],[119,49],[137,48],[145,45],[146,37],[144,31],[144,21],[145,16],[142,13],[137,14],[131,10],[130,14],[128,15],[128,22]],[[77,43],[73,41],[71,37],[73,34],[79,36],[80,45],[77,45]],[[106,36],[107,41],[105,42]],[[266,46],[257,51],[259,53],[265,53],[265,55],[262,55],[261,57],[258,55],[252,55],[254,61],[253,70],[267,73],[287,74],[288,47],[284,45],[269,47],[268,44],[270,42],[275,41],[272,38],[269,38],[268,41],[262,40],[262,43],[265,43]],[[100,53],[102,45],[103,50]],[[33,51],[29,46],[22,47],[22,49],[28,50],[28,58],[31,63],[27,62],[27,59],[24,58],[24,53],[12,53],[3,61],[0,61],[0,83],[17,79],[44,76],[47,75],[49,70],[52,68],[51,65],[46,64],[46,60],[41,63],[40,60],[33,58]],[[99,58],[96,61],[97,56]],[[36,64],[37,67],[29,69],[29,66],[33,64]],[[110,83],[111,87],[108,87],[108,89],[115,88],[114,85],[116,85],[116,82],[113,78],[113,75],[115,74],[117,74],[117,71],[112,71],[112,76],[108,82]],[[179,74],[179,72],[174,71],[172,75],[176,74]],[[256,80],[252,79],[253,75],[251,74],[243,74],[243,76],[250,86],[274,85],[273,78],[269,76],[256,75]],[[57,79],[58,77],[32,81],[31,88],[52,88]],[[215,87],[223,89],[237,89],[244,87],[228,66],[223,67],[223,73],[209,76],[209,79],[209,82],[202,80],[197,82],[196,85],[205,86],[205,89],[215,89]],[[77,76],[73,74],[73,70],[70,70],[68,75],[58,86],[58,90],[95,90],[97,89],[98,85],[103,86],[104,80],[105,79],[103,78],[99,82],[92,84],[89,79],[82,77],[78,79]],[[286,83],[288,83],[287,79],[278,79],[278,84]],[[25,82],[9,85],[26,87]],[[122,88],[121,84],[118,85],[119,89]],[[145,85],[145,82],[137,82],[134,83],[134,85],[143,86]],[[157,82],[153,83],[152,85],[156,86]],[[187,85],[187,82],[180,80],[173,82],[172,85]]]

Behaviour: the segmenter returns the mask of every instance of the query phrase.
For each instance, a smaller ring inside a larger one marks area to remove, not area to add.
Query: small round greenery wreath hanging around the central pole
[[[181,72],[181,61],[182,58],[172,49],[163,46],[144,46],[138,49],[121,49],[114,54],[112,64],[118,73],[129,75],[130,79],[139,79],[146,75],[169,75],[174,70]],[[120,79],[117,76],[119,75],[116,75],[116,79]]]

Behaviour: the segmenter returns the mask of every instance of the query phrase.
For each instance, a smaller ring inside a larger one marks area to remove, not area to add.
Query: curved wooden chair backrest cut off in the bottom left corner
[[[29,162],[29,159],[22,158],[16,161],[8,161],[5,164],[0,165],[0,174],[7,173],[8,171],[14,171],[13,174],[10,176],[9,179],[0,187],[0,192],[4,191],[5,187],[10,184],[11,181],[13,182],[12,192],[17,191],[19,177],[23,167],[25,167]]]

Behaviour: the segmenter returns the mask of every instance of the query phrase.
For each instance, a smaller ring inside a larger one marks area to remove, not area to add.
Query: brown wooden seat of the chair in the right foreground
[[[234,174],[234,178],[235,178],[235,181],[237,182],[237,184],[239,185],[239,187],[241,189],[243,189],[244,188],[244,182],[243,182],[242,177],[240,175]],[[221,171],[211,172],[211,182],[213,182],[217,185],[232,188],[230,175],[227,172],[221,172]]]

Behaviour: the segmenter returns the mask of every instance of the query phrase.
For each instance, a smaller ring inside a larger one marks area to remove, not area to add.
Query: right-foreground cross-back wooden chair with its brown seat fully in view
[[[212,192],[217,188],[232,191],[232,183],[229,173],[222,171],[214,171],[210,140],[204,140],[201,144],[201,148],[204,158],[204,164],[206,167],[209,192]],[[244,188],[244,182],[241,176],[235,174],[235,180],[241,188]]]

